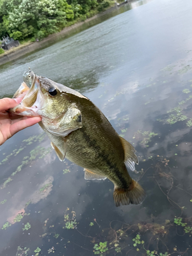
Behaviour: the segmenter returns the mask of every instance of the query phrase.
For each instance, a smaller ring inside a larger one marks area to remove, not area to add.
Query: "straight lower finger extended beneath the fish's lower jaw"
[[[11,136],[13,136],[15,133],[17,133],[29,126],[32,126],[35,123],[38,123],[40,121],[41,121],[40,117],[30,117],[30,118],[19,120],[19,121],[17,120],[17,122],[13,121],[14,123],[10,126]]]

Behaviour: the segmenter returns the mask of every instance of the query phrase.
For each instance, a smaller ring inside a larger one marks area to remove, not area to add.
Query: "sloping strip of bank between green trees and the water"
[[[3,56],[0,55],[0,66],[4,65],[5,63],[15,60],[17,58],[20,58],[28,53],[32,53],[36,50],[44,49],[51,44],[56,43],[57,41],[61,39],[65,39],[67,37],[70,37],[73,34],[76,34],[78,32],[83,31],[84,29],[87,29],[89,27],[94,26],[91,22],[96,21],[100,17],[104,16],[105,14],[110,14],[112,12],[117,12],[120,10],[120,8],[123,6],[129,6],[131,2],[134,2],[134,0],[127,0],[127,2],[123,2],[119,5],[115,5],[114,7],[111,7],[101,13],[98,13],[90,18],[87,18],[83,22],[77,22],[76,24],[65,27],[60,32],[50,34],[48,37],[42,39],[41,41],[35,41],[35,42],[29,42],[24,45],[19,45],[18,47],[12,48],[9,53],[4,53]],[[121,12],[120,12],[121,13]],[[118,15],[119,13],[116,13],[115,15]],[[101,21],[102,22],[102,21]],[[97,24],[97,23],[96,23]],[[96,25],[95,24],[95,25]]]

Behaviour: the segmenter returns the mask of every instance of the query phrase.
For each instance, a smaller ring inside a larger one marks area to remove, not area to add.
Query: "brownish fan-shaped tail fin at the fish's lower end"
[[[145,191],[143,188],[133,180],[133,183],[129,188],[120,188],[115,187],[113,198],[115,201],[115,205],[118,207],[120,204],[127,205],[127,204],[139,204],[142,202],[145,196]]]

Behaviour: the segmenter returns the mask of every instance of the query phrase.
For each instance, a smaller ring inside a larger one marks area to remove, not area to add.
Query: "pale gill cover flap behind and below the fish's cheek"
[[[50,133],[62,137],[82,127],[81,112],[76,105],[71,105],[67,112],[54,123],[47,123],[46,119],[42,119],[42,122]]]

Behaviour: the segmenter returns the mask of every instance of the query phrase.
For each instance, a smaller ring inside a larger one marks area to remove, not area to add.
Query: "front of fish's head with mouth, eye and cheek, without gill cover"
[[[55,119],[68,109],[67,94],[62,84],[37,76],[31,69],[23,75],[24,82],[13,98],[22,97],[22,102],[10,112],[23,116],[40,116]]]

